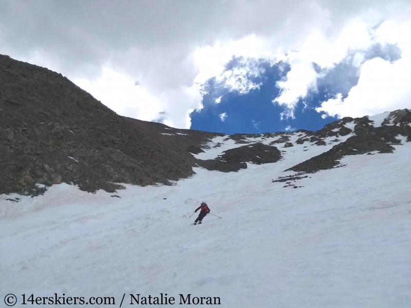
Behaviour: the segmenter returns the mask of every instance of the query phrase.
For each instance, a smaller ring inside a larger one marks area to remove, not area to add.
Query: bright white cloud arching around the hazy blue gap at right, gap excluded
[[[376,43],[397,44],[402,49],[401,59],[394,63],[381,58],[364,61],[364,54],[357,52],[353,65],[361,67],[358,85],[351,89],[345,100],[339,94],[324,102],[317,111],[324,111],[328,115],[360,117],[409,107],[411,83],[406,75],[411,64],[410,30],[409,22],[384,22],[372,29],[369,25],[354,20],[334,40],[327,40],[318,33],[308,37],[301,50],[287,56],[291,70],[284,80],[277,82],[281,92],[273,102],[285,107],[282,118],[293,118],[298,100],[304,100],[309,91],[316,90],[316,79],[323,73],[317,73],[312,63],[315,62],[326,70],[331,69],[350,50],[366,50]]]

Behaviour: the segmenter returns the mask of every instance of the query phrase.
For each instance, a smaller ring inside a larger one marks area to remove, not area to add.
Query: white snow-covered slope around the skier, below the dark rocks
[[[411,143],[402,143],[393,154],[345,157],[345,167],[309,174],[296,189],[272,180],[331,141],[276,145],[286,151],[277,163],[196,168],[174,186],[125,185],[121,198],[67,184],[18,203],[3,195],[1,300],[112,296],[118,307],[124,293],[122,306],[129,294],[163,293],[176,304],[191,294],[233,308],[410,307]],[[202,200],[222,218],[194,226]]]

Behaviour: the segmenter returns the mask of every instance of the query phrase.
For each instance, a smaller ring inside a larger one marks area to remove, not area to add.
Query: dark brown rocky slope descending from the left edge
[[[61,74],[0,56],[0,194],[36,183],[114,191],[117,183],[170,183],[193,174],[164,147]]]

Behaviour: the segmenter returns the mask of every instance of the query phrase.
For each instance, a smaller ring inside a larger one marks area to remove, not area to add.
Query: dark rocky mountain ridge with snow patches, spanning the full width
[[[315,132],[228,136],[176,129],[121,117],[61,74],[0,55],[0,194],[35,196],[62,182],[90,192],[114,192],[122,183],[170,185],[196,166],[230,172],[250,162],[275,163],[295,145],[325,147],[288,169],[316,172],[347,155],[392,152],[397,136],[411,141],[410,123],[404,109],[379,126],[367,117],[344,118]],[[234,148],[201,159],[204,150],[225,143]]]

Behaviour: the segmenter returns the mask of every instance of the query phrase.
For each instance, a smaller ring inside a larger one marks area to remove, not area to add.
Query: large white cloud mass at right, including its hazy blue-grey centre
[[[297,103],[320,84],[335,93],[316,109],[327,115],[363,116],[408,106],[411,85],[403,80],[409,70],[409,30],[409,22],[369,28],[354,21],[333,41],[310,36],[301,50],[288,55],[291,70],[276,84],[281,92],[273,103],[284,106],[281,118],[294,118]]]

